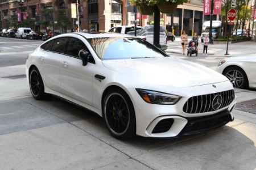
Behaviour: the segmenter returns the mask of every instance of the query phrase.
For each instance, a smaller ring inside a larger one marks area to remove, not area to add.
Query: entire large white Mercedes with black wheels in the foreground
[[[179,137],[234,119],[225,76],[130,35],[53,37],[28,56],[26,74],[35,99],[53,94],[88,108],[118,139]]]

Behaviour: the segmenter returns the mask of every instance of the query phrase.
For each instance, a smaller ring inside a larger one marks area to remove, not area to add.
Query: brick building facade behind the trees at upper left
[[[28,19],[35,20],[35,28],[45,30],[44,25],[39,25],[39,21],[45,19],[40,15],[40,11],[52,9],[66,9],[67,18],[72,22],[68,26],[67,32],[72,28],[76,29],[77,18],[71,18],[71,3],[79,3],[79,26],[81,29],[91,31],[106,31],[115,24],[126,25],[127,0],[24,0],[23,6],[19,0],[0,0],[0,15],[3,28],[9,28],[11,16],[16,16],[17,11],[26,12]],[[22,0],[20,0],[22,1]],[[23,13],[24,14],[24,13]],[[56,25],[56,12],[47,18],[49,27],[54,29]],[[1,27],[0,23],[0,27]],[[56,28],[58,29],[58,28]]]

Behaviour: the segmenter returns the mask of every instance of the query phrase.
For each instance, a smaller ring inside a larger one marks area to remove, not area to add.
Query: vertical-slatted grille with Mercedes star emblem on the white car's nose
[[[232,103],[234,96],[234,90],[193,96],[184,104],[183,112],[194,114],[217,111]]]

